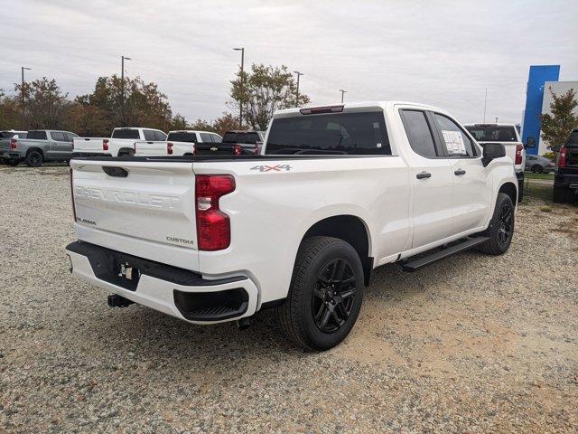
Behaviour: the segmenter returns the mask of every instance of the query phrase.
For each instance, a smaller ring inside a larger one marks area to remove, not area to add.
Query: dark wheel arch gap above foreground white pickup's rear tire
[[[370,256],[371,240],[368,226],[358,216],[351,214],[334,215],[314,223],[303,235],[300,245],[304,240],[315,237],[333,237],[350,243],[358,252],[363,267],[364,283],[369,285],[371,271],[373,270],[373,258]]]

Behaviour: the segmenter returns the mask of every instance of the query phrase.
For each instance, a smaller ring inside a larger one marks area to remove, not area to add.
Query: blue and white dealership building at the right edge
[[[563,95],[568,90],[578,94],[578,81],[559,81],[560,65],[533,65],[527,80],[526,109],[522,115],[522,141],[536,137],[538,146],[527,148],[528,154],[542,156],[548,152],[548,144],[540,137],[540,116],[551,114],[550,104],[555,95]],[[578,114],[578,108],[575,109]]]

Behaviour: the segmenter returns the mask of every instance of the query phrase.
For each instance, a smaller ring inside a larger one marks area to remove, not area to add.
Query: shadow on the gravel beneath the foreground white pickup
[[[472,266],[483,263],[484,258],[488,257],[474,251],[465,252],[452,263],[446,260],[411,274],[394,264],[376,269],[371,285],[365,288],[363,307],[353,333],[328,354],[363,345],[376,326],[387,327],[387,318],[379,317],[379,312],[387,312],[392,303],[412,309],[412,299],[423,297],[430,288],[443,285],[452,276],[467,273]],[[102,300],[104,305],[105,297]],[[372,315],[365,315],[366,311]],[[104,358],[128,357],[165,366],[186,361],[189,366],[203,369],[230,369],[239,363],[259,364],[263,357],[308,355],[284,339],[272,310],[258,312],[252,318],[252,325],[243,331],[238,330],[235,323],[191,325],[139,305],[123,309],[103,307],[89,316],[79,330],[82,335],[79,342],[89,344],[90,353]]]

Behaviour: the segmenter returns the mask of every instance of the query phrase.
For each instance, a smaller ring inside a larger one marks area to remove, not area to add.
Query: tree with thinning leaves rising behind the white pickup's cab
[[[242,103],[243,118],[256,129],[265,130],[275,110],[299,107],[310,101],[302,93],[297,100],[294,76],[284,65],[254,63],[250,72],[238,71],[231,85],[230,96],[236,107]]]

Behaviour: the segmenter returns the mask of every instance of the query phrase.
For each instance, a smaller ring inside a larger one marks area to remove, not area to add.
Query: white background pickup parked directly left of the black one
[[[197,144],[212,146],[213,143],[220,143],[222,138],[210,131],[169,131],[165,141],[135,142],[135,156],[193,156]]]

